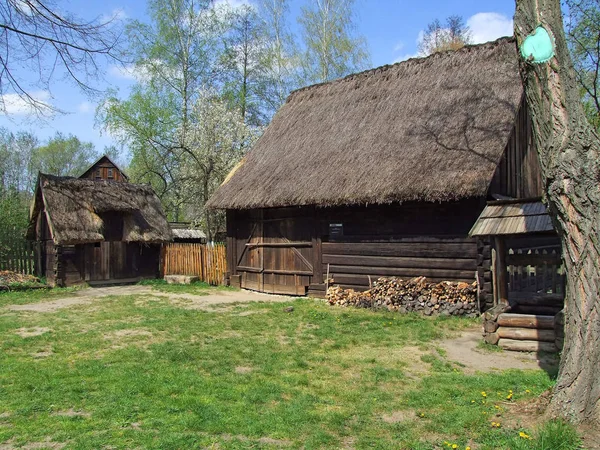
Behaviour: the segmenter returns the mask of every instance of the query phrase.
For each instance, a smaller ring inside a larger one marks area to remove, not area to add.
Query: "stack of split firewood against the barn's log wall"
[[[400,313],[419,312],[427,316],[479,315],[476,283],[429,283],[425,277],[411,280],[379,278],[365,292],[333,286],[327,291],[327,300],[331,305],[385,308]]]

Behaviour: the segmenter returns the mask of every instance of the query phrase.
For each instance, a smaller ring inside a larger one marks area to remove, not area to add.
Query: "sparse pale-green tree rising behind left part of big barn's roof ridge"
[[[369,66],[366,40],[355,33],[354,0],[309,0],[298,19],[305,44],[304,79],[323,83]]]

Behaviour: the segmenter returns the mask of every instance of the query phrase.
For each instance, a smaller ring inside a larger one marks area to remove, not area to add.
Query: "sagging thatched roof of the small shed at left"
[[[123,241],[161,243],[172,240],[160,200],[150,186],[39,174],[31,209],[29,239],[36,219],[46,217],[57,245],[104,240],[104,213],[122,213]]]

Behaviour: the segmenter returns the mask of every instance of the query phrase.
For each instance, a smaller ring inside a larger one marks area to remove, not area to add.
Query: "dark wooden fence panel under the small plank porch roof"
[[[509,291],[565,293],[565,272],[558,249],[510,249],[506,255]]]

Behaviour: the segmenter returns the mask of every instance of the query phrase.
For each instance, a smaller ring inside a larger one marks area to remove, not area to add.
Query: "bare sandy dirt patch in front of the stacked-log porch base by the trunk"
[[[557,358],[544,355],[538,357],[535,353],[520,352],[489,352],[477,348],[481,341],[479,327],[463,331],[454,339],[447,339],[440,343],[446,351],[450,361],[464,365],[466,373],[491,372],[506,369],[544,369],[552,370],[558,363]]]

